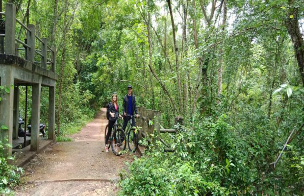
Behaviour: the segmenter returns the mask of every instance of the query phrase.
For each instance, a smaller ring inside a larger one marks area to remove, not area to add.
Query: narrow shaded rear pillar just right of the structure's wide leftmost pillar
[[[13,110],[13,140],[18,139],[18,128],[19,128],[19,98],[20,89],[14,87],[14,110]]]

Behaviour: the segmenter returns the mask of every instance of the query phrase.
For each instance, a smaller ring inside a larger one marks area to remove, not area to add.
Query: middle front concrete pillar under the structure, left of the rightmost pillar
[[[39,123],[40,123],[40,96],[41,83],[32,86],[32,120],[30,149],[39,150]]]

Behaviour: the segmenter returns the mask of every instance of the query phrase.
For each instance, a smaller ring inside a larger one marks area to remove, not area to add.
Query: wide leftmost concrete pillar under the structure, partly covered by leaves
[[[5,125],[8,127],[6,130],[1,130],[1,140],[8,139],[9,144],[13,144],[13,103],[14,91],[11,90],[11,84],[14,84],[14,78],[10,66],[2,66],[0,69],[1,86],[8,87],[10,93],[1,94],[2,100],[0,101],[0,126]],[[12,155],[12,148],[5,150],[5,156]]]

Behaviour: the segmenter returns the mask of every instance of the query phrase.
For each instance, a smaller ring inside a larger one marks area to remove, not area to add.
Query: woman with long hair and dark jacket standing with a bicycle
[[[110,112],[110,118],[109,118],[109,126],[108,126],[108,132],[106,134],[105,137],[105,151],[109,152],[108,149],[108,144],[107,142],[109,141],[109,137],[111,136],[111,132],[112,132],[112,128],[116,122],[116,119],[119,118],[123,118],[120,114],[119,114],[119,106],[118,106],[118,101],[117,101],[117,93],[114,92],[112,94],[112,102],[109,105],[109,112]],[[115,146],[116,146],[116,140],[115,140]],[[116,151],[119,151],[119,149],[117,149],[118,147],[116,147]]]

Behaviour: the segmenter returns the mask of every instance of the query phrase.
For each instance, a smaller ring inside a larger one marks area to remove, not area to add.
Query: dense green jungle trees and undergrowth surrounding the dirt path
[[[176,151],[150,146],[120,195],[304,194],[304,0],[8,1],[57,48],[59,138],[129,83],[163,127],[183,118]]]

